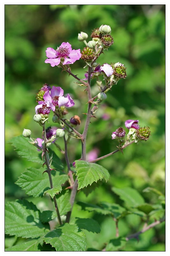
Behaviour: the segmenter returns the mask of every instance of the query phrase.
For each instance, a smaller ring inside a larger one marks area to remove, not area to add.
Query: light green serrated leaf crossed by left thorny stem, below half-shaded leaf
[[[47,188],[50,188],[48,173],[45,172],[42,175],[43,172],[44,169],[42,167],[40,169],[30,167],[21,174],[15,183],[26,191],[26,195],[34,197],[42,196],[43,192],[47,190]],[[53,186],[61,185],[68,179],[68,176],[60,171],[55,172],[52,170],[51,176]]]

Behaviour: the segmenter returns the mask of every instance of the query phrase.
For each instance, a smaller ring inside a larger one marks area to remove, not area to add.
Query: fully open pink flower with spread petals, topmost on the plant
[[[81,58],[80,49],[72,50],[71,44],[63,42],[56,50],[48,47],[46,50],[47,60],[45,63],[50,63],[51,67],[58,66],[60,61],[65,64],[73,64]]]

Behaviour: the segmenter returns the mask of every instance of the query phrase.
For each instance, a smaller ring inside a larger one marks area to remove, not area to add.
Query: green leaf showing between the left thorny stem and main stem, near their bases
[[[66,215],[71,210],[69,190],[63,190],[60,196],[56,196],[60,216]]]

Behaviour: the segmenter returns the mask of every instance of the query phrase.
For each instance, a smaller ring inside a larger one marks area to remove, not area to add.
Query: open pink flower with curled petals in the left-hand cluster
[[[49,91],[45,92],[43,99],[45,100],[45,102],[48,102],[48,104],[53,105],[53,108],[52,108],[53,111],[55,111],[55,106],[58,106],[59,108],[61,106],[65,106],[65,107],[74,106],[74,101],[71,99],[69,94],[67,95],[67,97],[63,96],[64,91],[61,87],[53,86],[50,93]]]

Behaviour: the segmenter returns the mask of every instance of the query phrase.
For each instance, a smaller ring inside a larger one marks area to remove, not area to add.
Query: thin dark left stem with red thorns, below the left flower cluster
[[[45,123],[43,125],[43,136],[44,136],[43,152],[45,153],[44,154],[44,159],[45,159],[45,164],[47,166],[47,173],[48,173],[48,177],[49,177],[50,188],[53,188],[53,182],[52,182],[52,177],[51,177],[51,169],[50,169],[50,163],[49,163],[49,156],[48,156],[48,153],[46,152],[47,137],[46,137]],[[61,220],[61,217],[60,217],[60,213],[59,213],[59,210],[58,210],[58,205],[57,205],[57,201],[56,201],[55,196],[53,197],[53,201],[54,201],[55,210],[56,210],[57,217],[58,217],[58,222],[60,223],[60,225],[62,225],[63,223],[62,223],[62,220]]]

